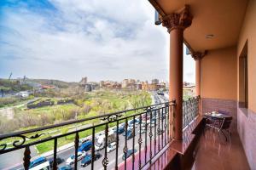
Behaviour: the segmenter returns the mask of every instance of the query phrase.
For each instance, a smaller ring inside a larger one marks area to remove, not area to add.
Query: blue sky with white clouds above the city
[[[169,38],[147,0],[1,0],[0,78],[167,81]]]

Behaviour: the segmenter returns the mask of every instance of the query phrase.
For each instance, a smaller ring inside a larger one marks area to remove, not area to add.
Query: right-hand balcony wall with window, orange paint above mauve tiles
[[[250,0],[237,43],[237,65],[247,43],[248,107],[237,107],[237,131],[251,169],[256,169],[256,1]],[[238,71],[239,73],[239,68]],[[239,101],[239,74],[237,74],[237,101]]]

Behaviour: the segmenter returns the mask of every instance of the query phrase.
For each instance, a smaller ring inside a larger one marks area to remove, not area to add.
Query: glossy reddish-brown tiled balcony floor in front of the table
[[[237,133],[232,133],[231,142],[225,142],[223,134],[207,129],[201,136],[199,149],[192,170],[249,170],[241,141]]]

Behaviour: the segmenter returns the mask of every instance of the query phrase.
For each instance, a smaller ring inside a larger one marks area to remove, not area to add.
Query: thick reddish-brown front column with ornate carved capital
[[[163,26],[170,33],[170,68],[169,68],[169,99],[176,100],[173,114],[169,116],[170,127],[173,123],[174,139],[183,139],[183,31],[191,25],[192,16],[189,6],[180,13],[168,14],[161,17]],[[172,130],[171,134],[172,135]]]

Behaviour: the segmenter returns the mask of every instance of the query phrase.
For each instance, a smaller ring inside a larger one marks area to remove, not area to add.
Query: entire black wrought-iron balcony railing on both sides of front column
[[[189,129],[191,123],[195,122],[199,113],[200,98],[196,97],[183,102],[183,127]],[[51,167],[57,169],[58,157],[63,156],[63,152],[74,155],[72,167],[74,169],[81,168],[79,151],[85,150],[86,155],[98,157],[99,160],[91,159],[86,164],[87,169],[145,169],[150,167],[159,159],[159,156],[166,151],[172,143],[172,117],[176,107],[175,100],[158,105],[150,105],[147,107],[119,111],[103,116],[90,117],[84,120],[64,122],[47,127],[40,127],[17,133],[8,133],[0,136],[0,154],[5,154],[10,161],[9,156],[12,152],[24,150],[23,163],[10,168],[32,169],[32,161],[38,156],[32,157],[31,150],[35,144],[43,144],[52,141],[53,150],[47,154],[43,154],[47,160],[51,161]],[[79,123],[90,120],[101,120],[101,123],[91,125],[90,127],[79,127],[77,130],[67,133],[61,133],[50,136],[48,133],[56,128],[66,127],[70,125],[78,125]],[[101,130],[102,129],[102,130]],[[127,132],[127,133],[125,133]],[[87,136],[80,139],[82,133]],[[99,137],[101,135],[101,138]],[[58,147],[58,140],[73,137],[74,143],[69,144],[65,150]],[[102,147],[98,147],[99,140],[102,140]],[[83,145],[90,142],[88,148],[82,149]],[[108,153],[108,144],[115,143],[116,149]],[[98,150],[97,150],[98,149]],[[136,150],[132,152],[131,150]],[[13,154],[15,155],[15,154]],[[86,157],[86,156],[85,156]],[[124,159],[127,157],[127,159]],[[62,160],[63,161],[63,160]],[[66,160],[65,160],[66,161]]]

